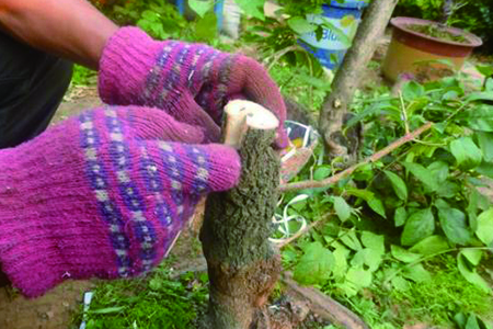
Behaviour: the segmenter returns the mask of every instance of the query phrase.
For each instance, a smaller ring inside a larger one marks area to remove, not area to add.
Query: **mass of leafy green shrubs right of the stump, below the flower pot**
[[[378,90],[358,94],[347,127],[365,123],[362,157],[427,122],[433,128],[336,185],[301,191],[310,197],[289,215],[324,224],[285,248],[285,266],[301,283],[354,300],[374,290],[409,295],[440,280],[427,264],[447,256],[461,284],[488,296],[491,307],[484,264],[493,248],[493,207],[479,189],[493,179],[492,100],[493,79],[471,91],[458,76],[411,81],[399,97]],[[340,170],[339,159],[324,163],[320,151],[296,180],[321,180]],[[450,316],[458,308],[444,311]]]

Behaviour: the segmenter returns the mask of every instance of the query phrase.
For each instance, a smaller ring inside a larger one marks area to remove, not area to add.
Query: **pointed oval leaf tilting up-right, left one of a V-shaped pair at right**
[[[413,246],[433,235],[434,230],[435,218],[432,209],[417,211],[408,218],[401,236],[401,243],[403,246]]]

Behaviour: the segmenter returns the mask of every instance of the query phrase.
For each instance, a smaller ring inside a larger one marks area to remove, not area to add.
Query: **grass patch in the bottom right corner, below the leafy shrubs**
[[[493,320],[493,297],[463,279],[454,256],[437,257],[425,266],[433,273],[433,280],[413,283],[408,291],[372,287],[342,302],[376,329],[402,328],[417,322],[450,328],[458,313],[472,313],[484,320]]]

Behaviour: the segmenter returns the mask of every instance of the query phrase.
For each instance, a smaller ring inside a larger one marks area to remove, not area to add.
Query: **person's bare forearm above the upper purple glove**
[[[33,47],[98,69],[118,29],[85,0],[0,0],[0,27]]]

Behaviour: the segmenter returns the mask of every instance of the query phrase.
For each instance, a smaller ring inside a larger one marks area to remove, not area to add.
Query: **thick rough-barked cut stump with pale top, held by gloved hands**
[[[200,240],[210,287],[202,327],[248,329],[280,273],[268,241],[279,184],[279,160],[271,148],[278,121],[246,101],[229,103],[226,113],[225,143],[240,145],[242,174],[237,188],[207,198]]]

